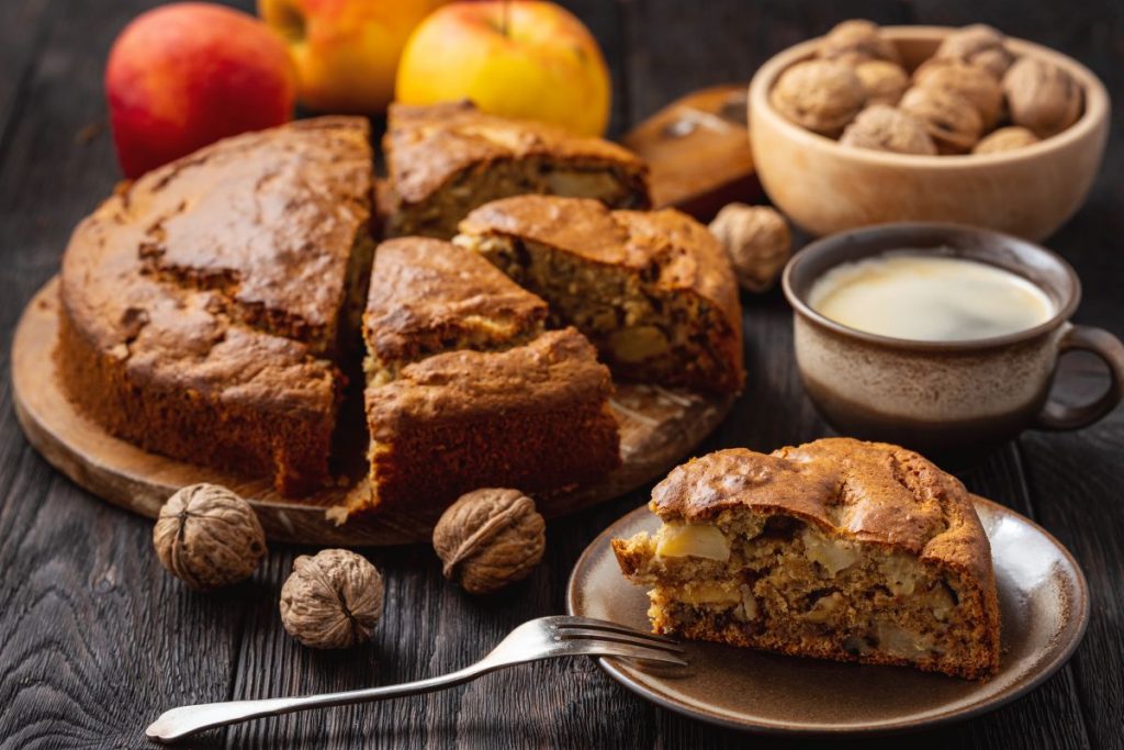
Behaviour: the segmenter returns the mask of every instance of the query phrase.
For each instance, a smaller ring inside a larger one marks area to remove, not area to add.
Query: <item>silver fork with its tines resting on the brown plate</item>
[[[345,693],[180,706],[162,713],[160,719],[148,725],[145,734],[157,742],[174,742],[207,729],[261,716],[432,693],[468,683],[502,667],[555,657],[622,657],[653,665],[686,667],[682,653],[683,650],[670,638],[644,633],[605,620],[540,617],[516,627],[477,663],[448,675]]]

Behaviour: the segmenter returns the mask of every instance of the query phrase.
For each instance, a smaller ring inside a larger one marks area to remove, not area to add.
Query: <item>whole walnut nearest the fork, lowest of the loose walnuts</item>
[[[302,554],[281,587],[281,623],[314,649],[346,649],[371,640],[382,616],[382,576],[347,550]]]

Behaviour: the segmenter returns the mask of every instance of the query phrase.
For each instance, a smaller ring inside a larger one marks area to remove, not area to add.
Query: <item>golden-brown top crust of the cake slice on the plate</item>
[[[677,467],[652,490],[652,510],[664,521],[740,507],[795,515],[978,580],[991,572],[987,535],[960,480],[896,445],[828,437],[769,455],[717,451]]]

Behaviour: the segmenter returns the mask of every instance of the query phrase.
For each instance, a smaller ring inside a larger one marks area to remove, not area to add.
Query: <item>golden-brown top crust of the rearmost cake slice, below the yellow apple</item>
[[[469,166],[533,156],[618,165],[646,186],[647,168],[627,148],[543,123],[486,115],[469,101],[391,105],[387,118],[387,172],[396,198],[408,204],[425,200]]]

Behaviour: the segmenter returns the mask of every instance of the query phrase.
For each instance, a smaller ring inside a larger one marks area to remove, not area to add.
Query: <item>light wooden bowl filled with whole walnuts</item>
[[[814,235],[936,220],[1043,240],[1108,135],[1093,72],[984,25],[844,21],[762,65],[749,100],[761,184]]]

